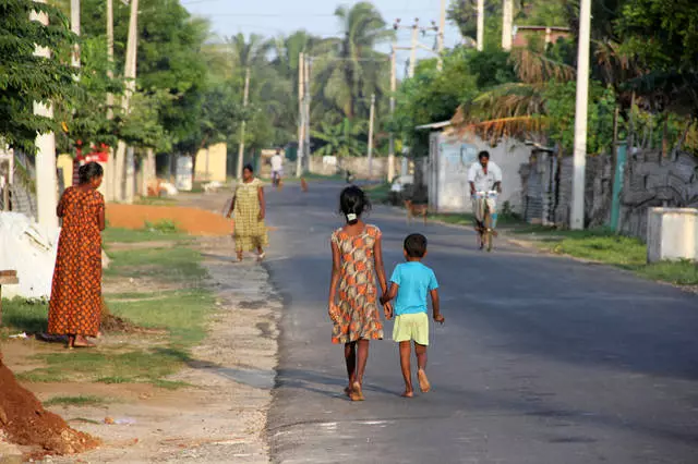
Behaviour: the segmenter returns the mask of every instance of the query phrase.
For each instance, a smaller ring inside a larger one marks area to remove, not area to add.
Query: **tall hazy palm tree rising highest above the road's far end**
[[[329,53],[317,59],[313,83],[320,98],[349,118],[368,113],[365,101],[371,94],[378,100],[388,91],[388,57],[374,47],[390,39],[393,30],[370,2],[335,11],[341,37],[328,40]]]

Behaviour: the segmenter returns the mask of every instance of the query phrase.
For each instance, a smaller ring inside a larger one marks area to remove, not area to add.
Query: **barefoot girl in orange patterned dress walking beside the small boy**
[[[349,386],[345,392],[352,401],[362,401],[363,373],[369,358],[369,341],[383,339],[378,315],[375,274],[387,291],[381,230],[361,220],[371,208],[369,198],[357,186],[341,192],[339,209],[347,223],[332,234],[332,282],[329,317],[334,322],[332,341],[344,343]],[[390,306],[386,306],[389,310]]]

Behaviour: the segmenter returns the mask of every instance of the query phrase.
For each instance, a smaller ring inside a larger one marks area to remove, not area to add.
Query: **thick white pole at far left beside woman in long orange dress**
[[[35,0],[37,3],[46,3],[46,0]],[[32,21],[48,26],[48,15],[32,11]],[[50,58],[51,50],[46,47],[35,46],[35,57]],[[51,103],[34,102],[34,114],[53,119]],[[36,203],[38,223],[47,229],[58,228],[56,206],[58,204],[58,179],[56,175],[56,135],[52,132],[36,136]]]

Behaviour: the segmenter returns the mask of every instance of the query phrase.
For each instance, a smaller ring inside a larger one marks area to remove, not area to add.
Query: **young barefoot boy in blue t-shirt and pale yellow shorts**
[[[410,367],[411,342],[414,342],[417,354],[417,378],[419,388],[426,393],[431,390],[426,378],[426,346],[429,345],[429,316],[426,310],[426,294],[432,297],[434,320],[444,323],[438,304],[438,282],[434,271],[421,261],[426,256],[426,237],[413,233],[405,239],[405,259],[407,262],[397,265],[390,277],[388,292],[381,296],[381,304],[385,305],[397,296],[395,303],[395,326],[393,340],[400,345],[400,367],[405,378],[405,393],[402,396],[412,398],[412,370]],[[390,319],[389,306],[385,309],[385,317]]]

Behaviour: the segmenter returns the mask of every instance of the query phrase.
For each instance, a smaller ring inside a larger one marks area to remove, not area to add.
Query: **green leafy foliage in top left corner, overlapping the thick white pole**
[[[32,11],[46,13],[49,25],[29,21]],[[0,2],[0,137],[12,147],[35,152],[38,133],[56,131],[55,120],[35,115],[35,101],[67,102],[77,86],[73,70],[61,61],[75,37],[56,8],[29,0]],[[51,58],[35,57],[35,45]]]

